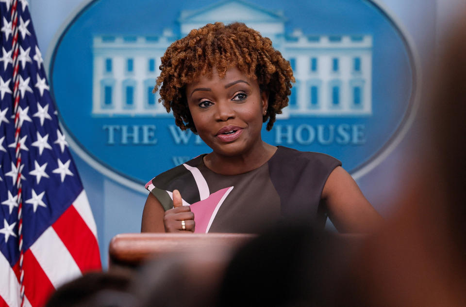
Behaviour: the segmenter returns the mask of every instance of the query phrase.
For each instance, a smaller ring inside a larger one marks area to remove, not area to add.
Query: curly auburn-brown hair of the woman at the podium
[[[153,92],[160,88],[159,102],[167,112],[173,110],[175,123],[182,129],[196,131],[186,100],[186,85],[200,76],[212,76],[217,69],[220,78],[237,67],[243,74],[256,79],[261,91],[268,93],[268,107],[263,123],[267,130],[275,122],[276,114],[288,105],[291,82],[295,82],[289,61],[275,50],[267,37],[235,22],[225,26],[221,22],[191,30],[186,37],[172,43],[162,57],[161,74]]]

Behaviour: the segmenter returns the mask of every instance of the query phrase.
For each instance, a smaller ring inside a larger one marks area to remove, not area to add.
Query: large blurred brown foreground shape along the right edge
[[[408,184],[354,273],[354,305],[466,306],[465,50],[463,18],[426,74]]]

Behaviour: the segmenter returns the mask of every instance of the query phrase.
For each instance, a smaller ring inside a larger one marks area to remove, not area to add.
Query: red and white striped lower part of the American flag
[[[96,223],[84,190],[24,252],[23,267],[22,306],[32,307],[43,306],[55,289],[83,272],[100,270]],[[0,271],[5,274],[0,278],[0,306],[21,306],[19,261],[12,269],[0,253]]]

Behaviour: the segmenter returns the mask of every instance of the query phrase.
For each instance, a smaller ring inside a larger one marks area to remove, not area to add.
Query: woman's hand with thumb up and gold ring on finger
[[[183,206],[178,190],[173,190],[173,209],[164,214],[165,232],[194,232],[194,213],[189,206]]]

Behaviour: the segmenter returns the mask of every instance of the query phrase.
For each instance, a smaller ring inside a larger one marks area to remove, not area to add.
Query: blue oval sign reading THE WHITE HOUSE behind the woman
[[[266,142],[330,154],[359,177],[412,121],[415,52],[373,1],[94,0],[67,24],[50,61],[50,91],[75,151],[137,184],[209,152],[152,89],[166,47],[215,21],[260,31],[294,70],[289,107],[264,129]]]

